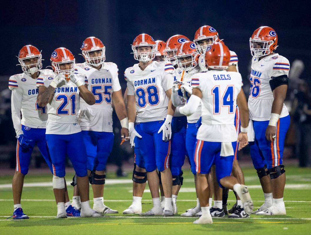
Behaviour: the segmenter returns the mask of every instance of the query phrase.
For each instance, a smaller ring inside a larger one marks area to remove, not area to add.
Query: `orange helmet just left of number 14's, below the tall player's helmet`
[[[193,67],[196,67],[199,59],[195,44],[191,41],[183,42],[177,49],[175,57],[178,62],[178,67],[185,71],[189,71]],[[190,57],[191,60],[184,62],[186,58]]]

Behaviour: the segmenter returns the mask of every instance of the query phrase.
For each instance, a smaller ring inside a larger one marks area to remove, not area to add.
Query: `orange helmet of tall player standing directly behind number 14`
[[[209,42],[207,39],[210,39]],[[204,41],[207,42],[204,43]],[[219,35],[216,29],[209,25],[204,25],[195,32],[193,42],[196,44],[197,52],[202,55],[209,45],[219,42]]]

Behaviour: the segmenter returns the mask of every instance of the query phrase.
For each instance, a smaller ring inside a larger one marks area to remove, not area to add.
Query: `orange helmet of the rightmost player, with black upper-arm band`
[[[253,32],[249,39],[249,47],[252,56],[265,56],[271,54],[277,48],[277,34],[268,26],[261,26]]]

